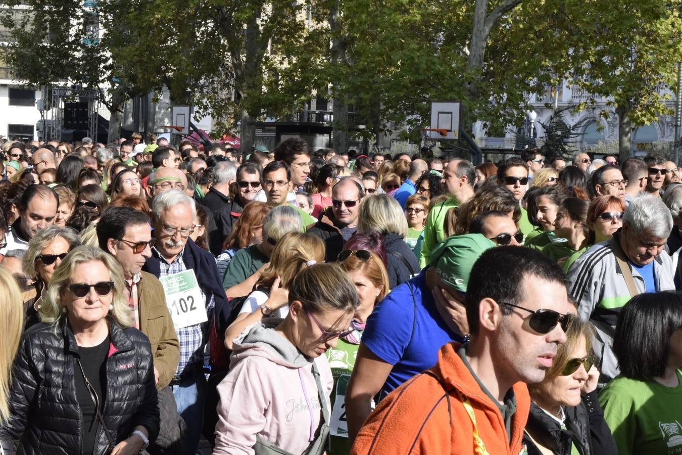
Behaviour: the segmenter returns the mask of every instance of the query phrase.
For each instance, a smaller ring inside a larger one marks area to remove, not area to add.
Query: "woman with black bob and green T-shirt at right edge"
[[[644,293],[621,310],[613,340],[620,375],[599,393],[618,453],[682,446],[682,297]]]

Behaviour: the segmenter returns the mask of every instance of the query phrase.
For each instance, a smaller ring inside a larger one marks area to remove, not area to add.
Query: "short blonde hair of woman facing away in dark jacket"
[[[407,218],[398,201],[388,194],[371,194],[361,203],[357,214],[357,232],[377,231],[382,235],[407,235]]]

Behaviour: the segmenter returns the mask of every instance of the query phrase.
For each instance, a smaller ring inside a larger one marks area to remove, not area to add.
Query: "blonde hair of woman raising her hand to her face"
[[[284,234],[277,241],[270,256],[270,262],[258,280],[258,285],[271,287],[277,276],[280,276],[280,284],[288,288],[296,274],[308,267],[306,263],[323,262],[325,251],[325,242],[315,235],[295,231]]]

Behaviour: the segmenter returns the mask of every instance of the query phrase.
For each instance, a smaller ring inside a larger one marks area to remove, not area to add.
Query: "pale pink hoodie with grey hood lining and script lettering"
[[[256,435],[301,454],[319,434],[322,413],[313,361],[270,327],[252,325],[234,342],[230,372],[218,385],[213,455],[253,454]],[[324,355],[314,362],[329,409],[331,369]]]

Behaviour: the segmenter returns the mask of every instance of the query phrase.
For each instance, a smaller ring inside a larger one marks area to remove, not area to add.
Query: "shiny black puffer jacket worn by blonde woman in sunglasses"
[[[57,332],[57,333],[55,333]],[[132,327],[109,321],[111,346],[106,360],[102,415],[116,443],[133,428],[145,426],[149,440],[159,431],[159,407],[147,337]],[[12,367],[10,419],[0,428],[5,454],[79,454],[80,405],[76,398],[76,338],[65,318],[55,325],[40,323],[27,330]],[[80,373],[79,373],[80,374]],[[101,426],[94,454],[104,455],[108,441]]]

